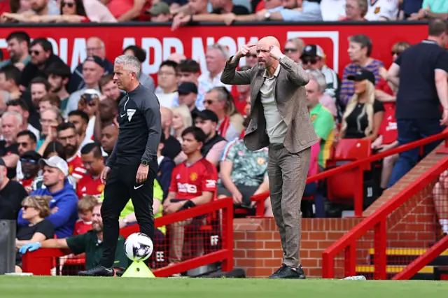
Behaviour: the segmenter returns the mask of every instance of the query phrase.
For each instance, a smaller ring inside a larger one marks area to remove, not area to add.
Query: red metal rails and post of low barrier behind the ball
[[[154,269],[153,274],[157,277],[167,277],[183,271],[195,269],[215,262],[222,262],[222,271],[232,271],[233,269],[233,201],[230,198],[212,201],[209,204],[190,208],[178,213],[164,215],[155,220],[155,228],[168,226],[174,222],[181,222],[190,218],[197,218],[200,215],[211,213],[221,213],[218,215],[221,221],[221,249],[212,253],[207,253],[200,257],[183,261],[169,267]],[[138,225],[132,225],[120,230],[123,237],[127,237],[134,232],[139,232]],[[34,275],[50,275],[52,267],[55,267],[55,257],[68,255],[70,252],[59,249],[40,249],[22,256],[22,269]]]

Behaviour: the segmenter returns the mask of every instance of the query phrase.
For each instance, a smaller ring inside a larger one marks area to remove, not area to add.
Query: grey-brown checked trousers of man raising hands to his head
[[[307,183],[310,159],[311,148],[290,153],[283,144],[269,145],[267,175],[272,212],[279,227],[283,264],[293,268],[300,265],[302,234],[300,203]]]

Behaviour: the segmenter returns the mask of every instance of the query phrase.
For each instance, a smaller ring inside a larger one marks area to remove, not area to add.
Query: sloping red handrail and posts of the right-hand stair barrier
[[[439,134],[438,136],[433,136],[431,138],[441,139],[445,136],[446,132]],[[429,138],[428,138],[429,139]],[[421,141],[427,141],[424,139]],[[419,141],[420,142],[420,141]],[[414,142],[417,143],[417,142]],[[404,147],[404,146],[402,146]],[[417,146],[413,146],[415,148]],[[397,148],[398,149],[398,148]],[[391,150],[394,151],[394,150]],[[395,150],[397,151],[397,150]],[[386,279],[386,265],[387,265],[387,229],[386,220],[388,216],[400,208],[403,204],[407,202],[415,194],[427,187],[428,184],[433,183],[440,174],[448,169],[448,157],[444,157],[440,162],[435,164],[433,168],[429,169],[424,173],[418,180],[414,180],[411,184],[405,187],[404,190],[400,191],[393,199],[387,201],[383,206],[377,209],[372,215],[365,218],[360,224],[356,225],[351,231],[342,236],[341,239],[332,244],[328,249],[323,252],[323,278],[335,278],[335,257],[344,251],[344,275],[354,276],[356,274],[356,254],[358,253],[358,248],[356,246],[356,241],[363,236],[366,236],[370,229],[373,229],[373,243],[374,243],[374,279]],[[401,215],[402,216],[402,215]],[[415,235],[414,235],[415,236]],[[439,252],[442,248],[433,248],[433,255]],[[427,261],[428,259],[424,259]],[[421,266],[423,262],[419,261],[418,265]],[[416,266],[419,267],[419,266]],[[418,269],[417,269],[418,270]],[[405,272],[406,276],[415,272],[415,269]]]

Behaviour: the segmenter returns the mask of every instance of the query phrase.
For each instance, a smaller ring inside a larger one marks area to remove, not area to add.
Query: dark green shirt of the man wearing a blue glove
[[[103,257],[103,243],[98,241],[97,232],[90,230],[85,234],[73,236],[66,239],[72,253],[79,255],[85,253],[85,268],[90,270],[100,265]],[[117,249],[115,253],[115,261],[113,267],[126,268],[129,261],[125,255],[125,239],[118,237]]]

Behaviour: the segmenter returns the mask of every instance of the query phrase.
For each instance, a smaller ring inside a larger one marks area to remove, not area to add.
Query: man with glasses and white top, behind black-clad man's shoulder
[[[162,3],[162,2],[159,2]],[[179,64],[174,61],[165,60],[160,64],[157,73],[158,86],[155,88],[155,95],[159,99],[160,106],[173,108],[177,94],[179,78],[176,68]]]

